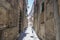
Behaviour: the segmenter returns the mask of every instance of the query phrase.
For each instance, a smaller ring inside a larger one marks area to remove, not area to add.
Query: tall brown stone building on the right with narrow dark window
[[[59,1],[34,1],[34,29],[41,40],[60,40]]]

